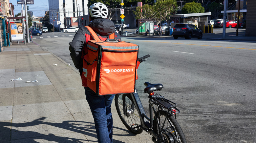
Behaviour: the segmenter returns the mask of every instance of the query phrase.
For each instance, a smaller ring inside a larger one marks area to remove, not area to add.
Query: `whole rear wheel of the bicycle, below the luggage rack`
[[[166,120],[165,120],[166,119]],[[160,127],[160,130],[159,130]],[[154,119],[154,132],[158,134],[158,141],[164,143],[186,143],[186,138],[177,120],[171,113],[159,110]],[[162,134],[160,134],[160,131]],[[163,140],[163,141],[162,141]]]

